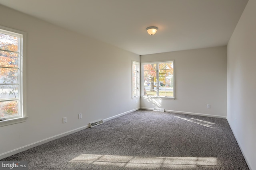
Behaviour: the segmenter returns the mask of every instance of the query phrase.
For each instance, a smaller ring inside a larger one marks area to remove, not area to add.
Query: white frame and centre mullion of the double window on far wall
[[[172,62],[173,63],[173,97],[163,97],[163,96],[159,96],[159,91],[157,90],[156,92],[156,96],[148,96],[148,95],[144,95],[144,67],[143,65],[144,64],[156,64],[156,71],[157,71],[157,74],[156,74],[156,89],[159,89],[159,83],[158,83],[158,77],[159,77],[159,63],[169,63],[169,62]],[[174,60],[168,60],[168,61],[156,61],[156,62],[144,62],[144,63],[141,63],[140,65],[140,68],[141,68],[141,97],[142,98],[159,98],[159,99],[165,99],[165,100],[175,100],[175,73],[174,73],[174,68],[175,68],[175,64],[174,64]]]

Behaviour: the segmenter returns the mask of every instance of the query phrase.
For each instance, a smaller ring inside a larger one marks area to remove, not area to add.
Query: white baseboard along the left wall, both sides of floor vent
[[[132,110],[130,110],[130,111],[126,111],[126,112],[124,112],[124,113],[121,113],[121,114],[118,114],[118,115],[115,115],[115,116],[112,116],[112,117],[109,117],[109,118],[107,118],[107,119],[104,119],[103,121],[109,121],[109,120],[111,120],[111,119],[114,119],[114,118],[116,118],[116,117],[120,117],[120,116],[122,116],[122,115],[125,115],[125,114],[127,114],[127,113],[131,113],[131,112],[136,111],[136,110],[139,110],[139,109],[140,109],[140,107],[138,107],[138,108],[136,108],[136,109],[132,109]],[[33,147],[36,147],[36,146],[38,146],[38,145],[42,145],[42,144],[44,144],[44,143],[53,141],[53,140],[58,139],[58,138],[60,138],[60,137],[64,137],[64,136],[66,136],[66,135],[70,135],[70,134],[72,134],[72,133],[81,131],[81,130],[83,130],[83,129],[87,129],[87,128],[89,128],[89,127],[90,127],[90,125],[86,125],[86,126],[83,126],[83,127],[79,127],[79,128],[77,128],[77,129],[73,129],[73,130],[71,130],[71,131],[67,131],[67,132],[64,132],[64,133],[61,133],[61,134],[58,134],[58,135],[55,135],[55,136],[46,138],[46,139],[42,139],[41,141],[37,141],[37,142],[34,142],[34,143],[31,143],[31,144],[25,145],[25,146],[20,147],[20,148],[17,148],[17,149],[14,149],[14,150],[10,150],[10,151],[8,151],[8,152],[4,152],[4,153],[0,154],[0,160],[3,159],[3,158],[6,158],[6,157],[8,157],[8,156],[11,156],[11,155],[13,155],[13,154],[22,152],[22,151],[24,151],[24,150],[28,150],[28,149],[33,148]]]

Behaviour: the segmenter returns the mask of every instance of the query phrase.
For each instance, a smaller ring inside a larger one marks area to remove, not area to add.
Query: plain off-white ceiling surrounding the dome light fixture
[[[0,0],[138,55],[227,45],[248,0]],[[156,26],[155,35],[146,27]]]

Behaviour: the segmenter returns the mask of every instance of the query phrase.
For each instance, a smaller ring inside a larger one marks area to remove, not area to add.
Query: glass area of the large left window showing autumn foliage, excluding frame
[[[0,33],[0,117],[18,114],[18,37]]]

